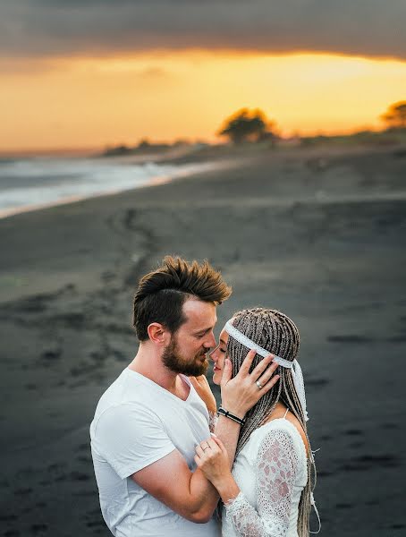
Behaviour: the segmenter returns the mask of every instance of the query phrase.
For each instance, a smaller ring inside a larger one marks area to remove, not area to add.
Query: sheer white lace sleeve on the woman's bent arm
[[[286,535],[298,468],[292,437],[284,430],[270,430],[261,442],[256,465],[258,511],[242,492],[225,506],[227,518],[241,537]]]

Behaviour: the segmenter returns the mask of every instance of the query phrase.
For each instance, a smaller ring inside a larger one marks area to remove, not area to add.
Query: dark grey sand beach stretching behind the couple
[[[321,534],[405,535],[405,237],[404,148],[281,149],[0,220],[0,535],[110,534],[89,423],[167,253],[223,271],[219,329],[258,304],[298,324]]]

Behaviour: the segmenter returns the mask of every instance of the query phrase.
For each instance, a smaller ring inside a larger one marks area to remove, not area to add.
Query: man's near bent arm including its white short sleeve
[[[97,420],[92,447],[121,479],[131,477],[179,515],[197,523],[212,515],[216,489],[200,470],[190,472],[161,419],[146,405],[131,402],[108,408]]]

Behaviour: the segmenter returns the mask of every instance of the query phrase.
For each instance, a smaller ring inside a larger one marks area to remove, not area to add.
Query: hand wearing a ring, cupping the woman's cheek
[[[279,375],[274,375],[278,364],[271,363],[274,354],[269,354],[263,358],[250,373],[250,366],[255,354],[255,351],[250,351],[247,354],[241,364],[240,371],[233,379],[232,362],[228,358],[224,361],[223,377],[220,383],[222,406],[240,418],[243,418],[250,408],[256,405],[259,399],[275,386],[279,379]],[[257,381],[262,388],[258,387]]]

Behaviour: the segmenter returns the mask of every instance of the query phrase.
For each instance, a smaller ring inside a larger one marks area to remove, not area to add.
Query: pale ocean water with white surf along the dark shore
[[[211,167],[109,158],[0,159],[0,217],[165,183]]]

